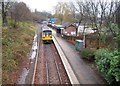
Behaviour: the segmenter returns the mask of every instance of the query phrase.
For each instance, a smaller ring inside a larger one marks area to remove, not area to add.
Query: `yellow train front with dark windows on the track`
[[[51,29],[43,29],[42,30],[42,40],[43,43],[52,43],[52,30]]]

